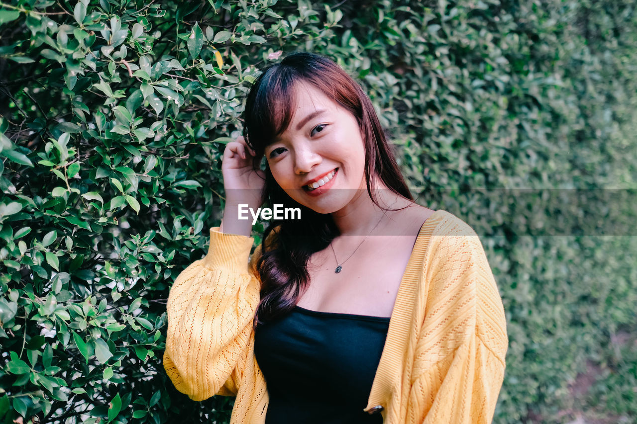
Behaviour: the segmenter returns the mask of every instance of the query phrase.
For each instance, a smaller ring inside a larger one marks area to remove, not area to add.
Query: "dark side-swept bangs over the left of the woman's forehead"
[[[255,81],[258,88],[250,92],[245,105],[243,135],[256,153],[263,153],[292,122],[296,105],[294,80],[298,81],[298,77],[291,69],[273,66]]]

